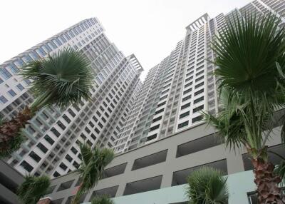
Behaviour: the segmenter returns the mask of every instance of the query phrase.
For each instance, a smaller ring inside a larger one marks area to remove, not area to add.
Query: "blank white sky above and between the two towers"
[[[170,54],[185,26],[208,13],[231,11],[249,0],[6,0],[0,1],[0,63],[96,16],[106,35],[128,56],[135,53],[145,71]]]

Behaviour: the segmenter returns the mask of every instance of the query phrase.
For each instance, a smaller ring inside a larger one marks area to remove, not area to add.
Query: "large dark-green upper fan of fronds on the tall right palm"
[[[221,86],[237,91],[274,92],[280,78],[276,62],[284,64],[285,29],[274,15],[235,16],[212,44]],[[284,82],[281,82],[284,84]]]

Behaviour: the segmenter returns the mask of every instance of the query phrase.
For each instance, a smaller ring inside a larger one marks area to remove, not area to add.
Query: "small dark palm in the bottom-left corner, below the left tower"
[[[51,180],[46,175],[40,177],[26,175],[24,183],[18,189],[18,196],[23,204],[36,204],[43,195],[46,195],[49,185]]]

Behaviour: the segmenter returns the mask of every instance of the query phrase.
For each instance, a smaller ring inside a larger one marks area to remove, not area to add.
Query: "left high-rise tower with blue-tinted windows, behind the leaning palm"
[[[27,141],[7,162],[19,172],[64,175],[78,168],[78,144],[112,148],[142,83],[142,66],[134,55],[125,57],[104,34],[98,19],[86,19],[0,65],[0,113],[9,120],[33,102],[31,81],[17,75],[28,61],[73,47],[90,61],[95,73],[90,101],[64,110],[42,108],[23,133]]]

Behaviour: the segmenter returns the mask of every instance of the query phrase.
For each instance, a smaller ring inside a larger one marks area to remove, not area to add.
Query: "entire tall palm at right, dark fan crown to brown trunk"
[[[274,111],[285,104],[285,29],[279,23],[272,15],[236,16],[216,37],[214,74],[222,111],[204,113],[229,148],[245,147],[251,155],[259,203],[284,202],[266,146]]]

